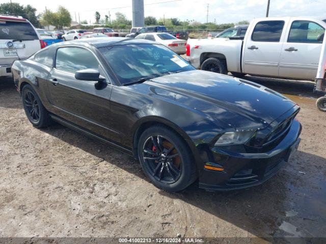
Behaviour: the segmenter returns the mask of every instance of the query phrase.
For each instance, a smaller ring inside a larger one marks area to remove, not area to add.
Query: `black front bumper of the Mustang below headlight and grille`
[[[227,191],[262,184],[274,176],[295,153],[300,143],[301,128],[301,124],[293,120],[287,135],[275,148],[266,153],[235,153],[213,148],[213,154],[223,159],[221,165],[223,170],[205,168],[199,176],[199,187],[208,191]],[[212,164],[216,165],[219,162],[215,161]]]

